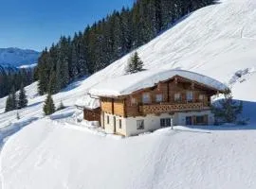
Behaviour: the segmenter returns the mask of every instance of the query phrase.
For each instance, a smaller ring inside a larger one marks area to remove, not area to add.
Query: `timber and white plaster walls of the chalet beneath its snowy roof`
[[[210,97],[222,92],[176,75],[131,94],[100,94],[99,121],[107,132],[124,136],[171,125],[209,125],[214,122],[214,115],[210,112]],[[84,112],[85,119],[87,113]]]

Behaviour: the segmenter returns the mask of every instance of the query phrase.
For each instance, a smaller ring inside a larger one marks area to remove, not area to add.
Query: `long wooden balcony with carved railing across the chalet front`
[[[139,106],[139,112],[142,114],[163,113],[163,112],[186,112],[210,109],[205,107],[204,103],[186,103],[186,104],[150,104]]]

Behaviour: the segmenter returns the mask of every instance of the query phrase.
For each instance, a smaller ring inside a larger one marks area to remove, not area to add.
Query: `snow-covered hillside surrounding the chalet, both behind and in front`
[[[116,140],[75,126],[76,100],[94,85],[124,74],[130,55],[53,96],[68,109],[43,118],[45,96],[26,88],[28,107],[4,113],[0,131],[2,188],[255,188],[256,1],[224,0],[199,9],[137,49],[149,70],[181,68],[216,78],[244,100],[250,125],[162,130]],[[39,120],[38,120],[39,119]],[[47,181],[46,181],[47,180]]]

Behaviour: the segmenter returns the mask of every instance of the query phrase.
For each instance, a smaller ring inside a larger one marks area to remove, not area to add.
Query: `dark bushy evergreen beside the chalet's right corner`
[[[243,112],[243,102],[234,101],[230,91],[226,90],[224,99],[212,107],[212,112],[215,114],[217,122],[235,123],[238,115]]]

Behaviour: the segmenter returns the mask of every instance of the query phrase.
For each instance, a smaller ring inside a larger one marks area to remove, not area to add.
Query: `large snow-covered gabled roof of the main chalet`
[[[164,81],[174,76],[185,77],[209,86],[216,91],[224,91],[228,87],[214,78],[206,77],[185,70],[160,70],[143,71],[137,74],[114,77],[104,80],[94,86],[89,94],[98,96],[119,96],[132,94],[138,90],[154,87],[159,81]]]

